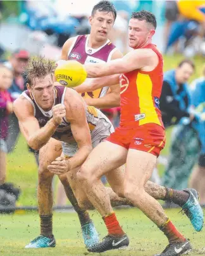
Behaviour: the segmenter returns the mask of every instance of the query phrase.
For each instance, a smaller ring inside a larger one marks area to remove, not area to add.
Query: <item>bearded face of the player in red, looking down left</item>
[[[131,18],[129,22],[128,43],[131,48],[144,46],[154,35],[155,30],[151,29],[146,20]]]

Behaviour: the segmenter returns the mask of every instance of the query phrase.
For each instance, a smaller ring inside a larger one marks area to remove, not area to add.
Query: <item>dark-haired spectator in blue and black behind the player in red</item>
[[[165,72],[160,109],[165,127],[175,126],[171,136],[168,166],[162,184],[173,189],[187,187],[190,170],[194,166],[199,151],[197,131],[190,126],[196,114],[190,111],[190,92],[187,81],[192,76],[195,65],[190,60],[182,60],[177,69]],[[189,146],[187,147],[187,145]],[[166,206],[171,206],[170,203]]]

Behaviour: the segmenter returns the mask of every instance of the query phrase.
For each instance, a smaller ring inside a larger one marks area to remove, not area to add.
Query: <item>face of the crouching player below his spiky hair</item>
[[[28,88],[35,98],[35,102],[48,111],[53,107],[54,102],[54,83],[51,74],[45,77],[35,78],[32,86]]]

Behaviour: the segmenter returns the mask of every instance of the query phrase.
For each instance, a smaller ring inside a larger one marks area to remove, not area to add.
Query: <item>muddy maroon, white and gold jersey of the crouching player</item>
[[[54,93],[55,93],[54,105],[64,104],[66,89],[67,88],[64,86],[54,87]],[[34,107],[34,116],[38,120],[40,128],[45,126],[46,123],[53,117],[52,111],[50,110],[46,112],[41,107],[39,107],[39,105],[35,102],[34,96],[28,90],[23,91],[22,96],[27,98],[27,100]],[[99,121],[98,112],[99,111],[97,111],[97,109],[95,109],[94,107],[87,106],[86,118],[89,124],[90,131],[94,130],[94,128],[96,127]],[[68,122],[65,118],[63,118],[63,122],[58,126],[58,128],[56,129],[52,137],[62,142],[67,142],[67,143],[72,142],[74,138],[71,132],[70,122]]]

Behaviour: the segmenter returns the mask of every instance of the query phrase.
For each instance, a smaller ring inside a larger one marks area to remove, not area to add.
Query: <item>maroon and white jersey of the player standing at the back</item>
[[[81,64],[109,62],[116,50],[111,41],[107,41],[104,45],[97,49],[88,46],[89,35],[77,36],[68,51],[68,60],[77,60]],[[95,91],[87,91],[81,96],[85,98],[99,98],[106,95],[109,87],[100,88]]]

